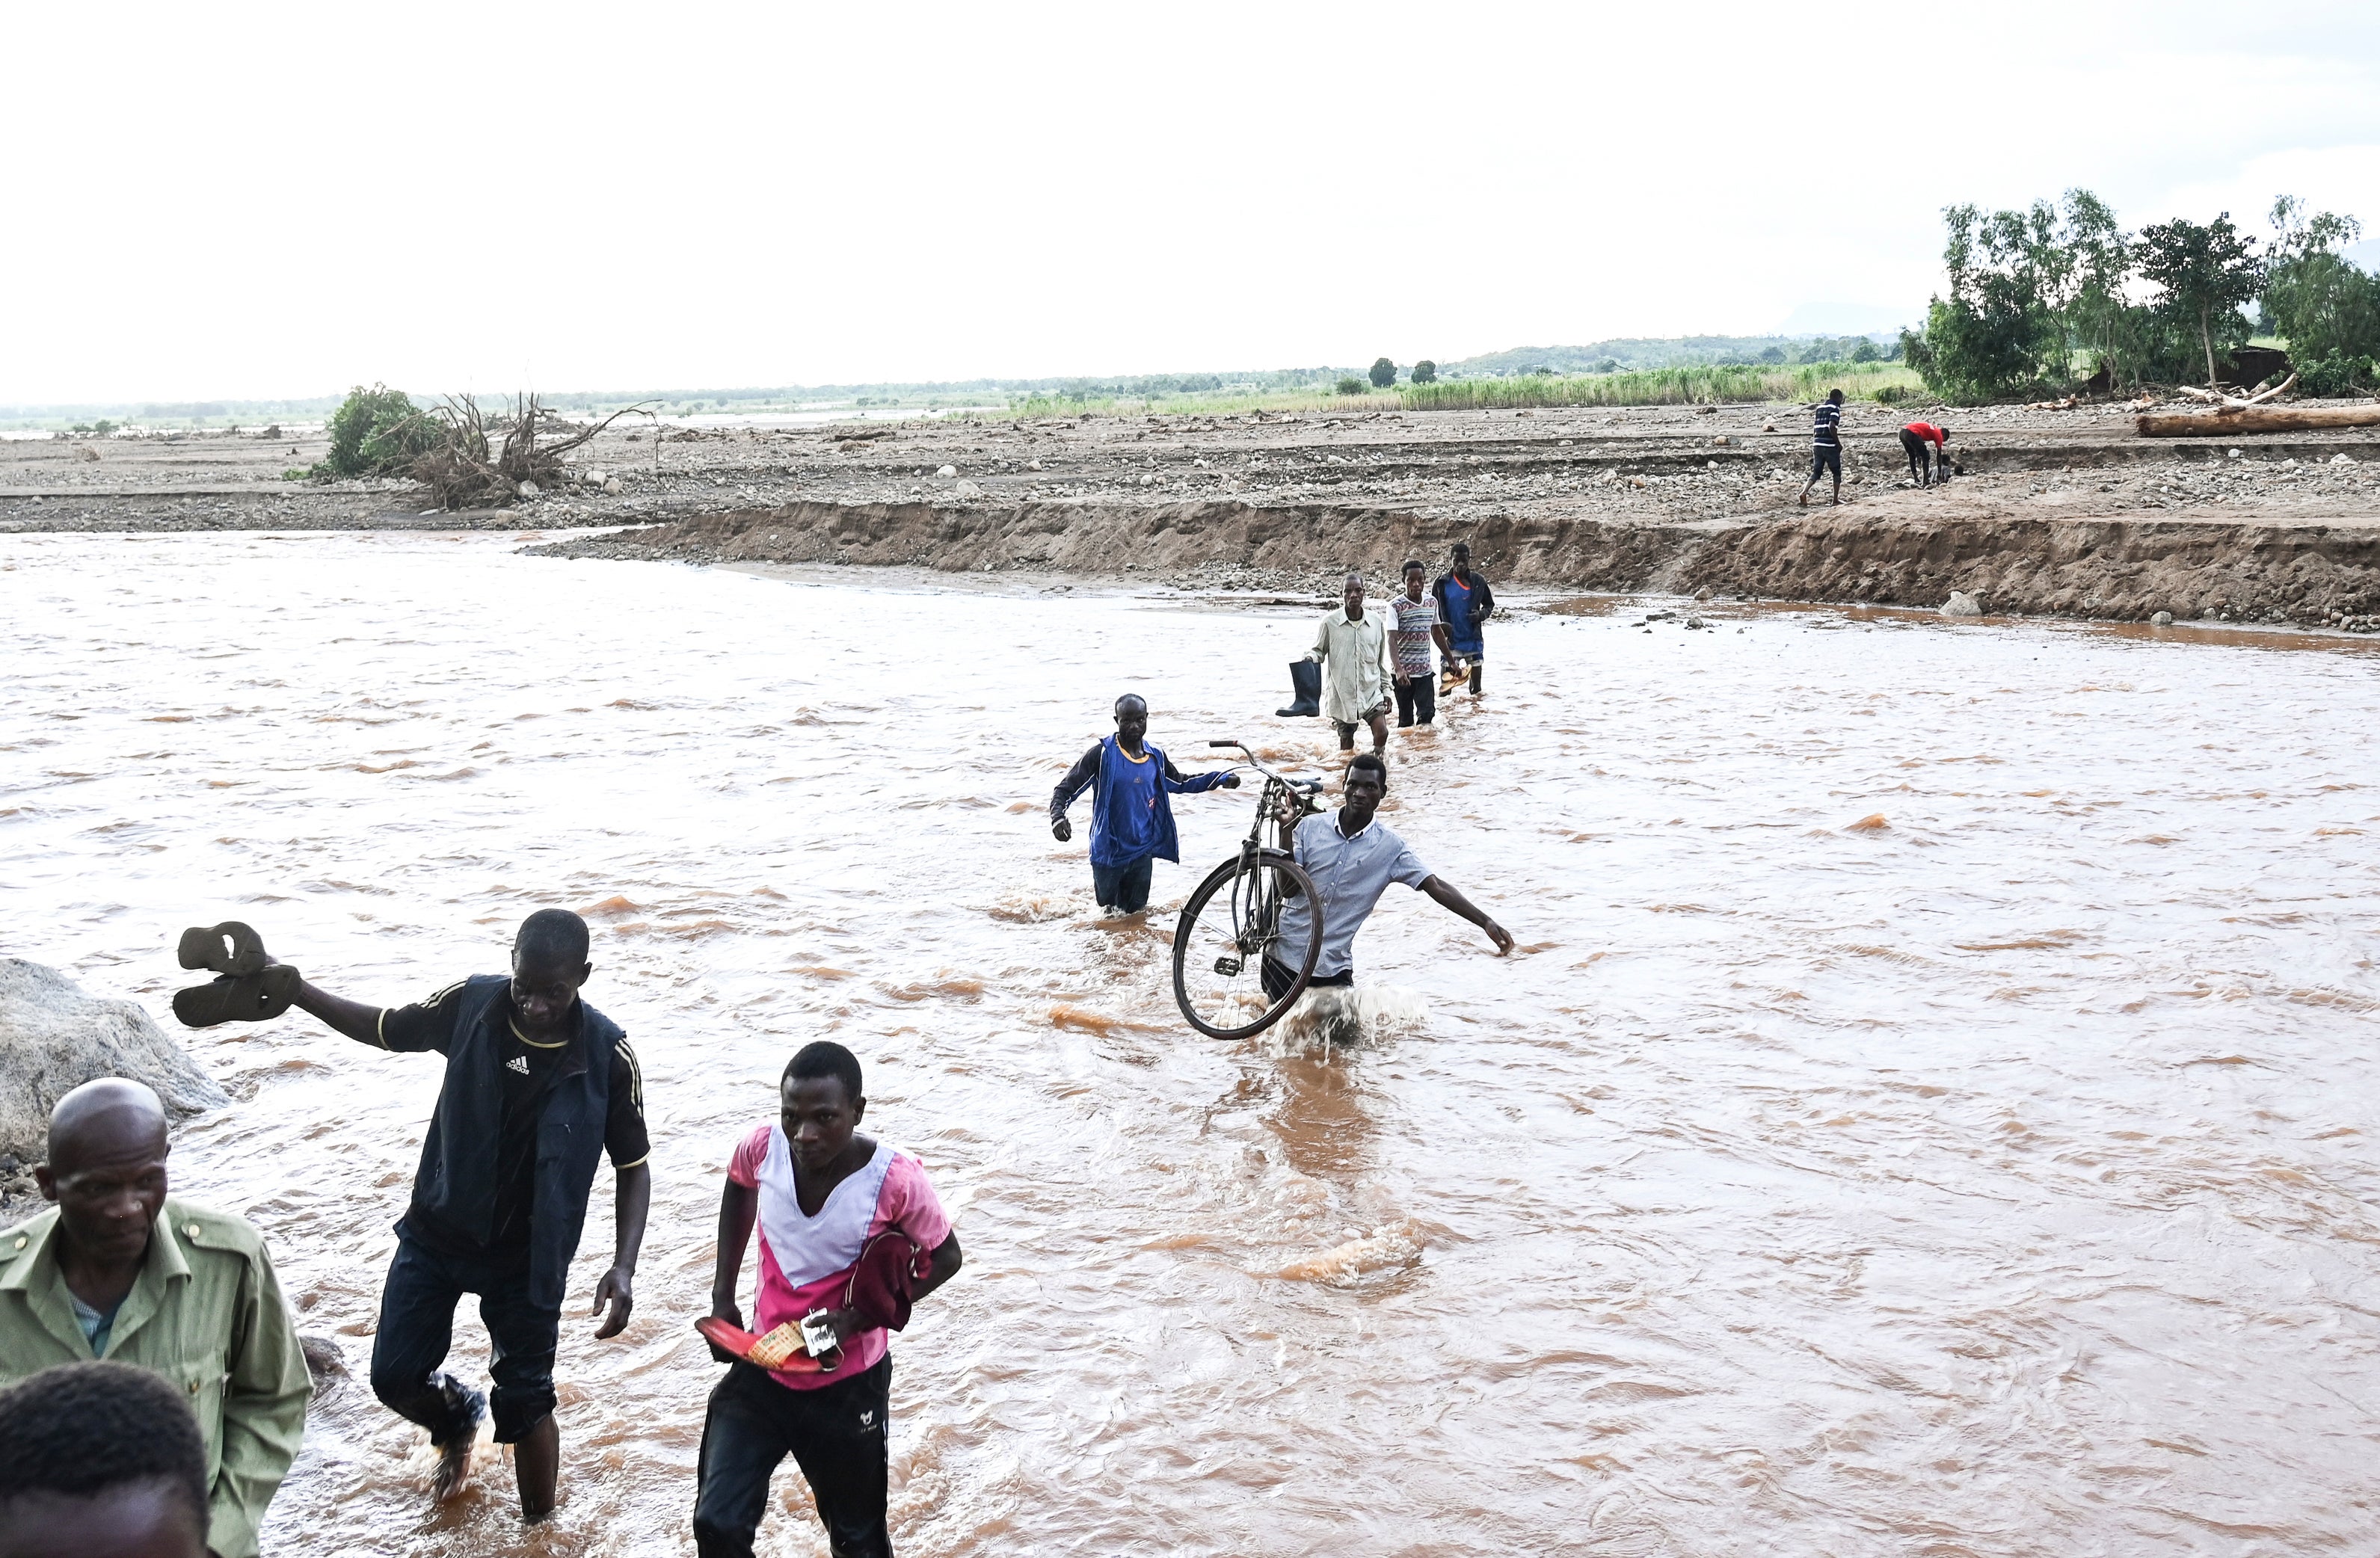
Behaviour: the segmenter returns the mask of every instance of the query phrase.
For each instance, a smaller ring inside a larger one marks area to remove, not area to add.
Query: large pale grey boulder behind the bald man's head
[[[0,1156],[43,1161],[50,1108],[93,1078],[148,1082],[176,1120],[231,1101],[136,1001],[0,959]]]

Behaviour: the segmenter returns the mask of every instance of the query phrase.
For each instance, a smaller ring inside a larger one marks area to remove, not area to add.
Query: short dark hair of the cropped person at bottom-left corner
[[[162,1482],[207,1529],[207,1441],[164,1377],[126,1363],[62,1363],[0,1391],[0,1506],[90,1499]]]

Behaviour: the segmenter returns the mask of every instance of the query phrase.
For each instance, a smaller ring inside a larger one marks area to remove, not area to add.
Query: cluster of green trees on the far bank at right
[[[1947,400],[2006,400],[2078,383],[2221,383],[2251,335],[2278,338],[2309,395],[2380,383],[2380,276],[2344,247],[2354,216],[2273,202],[2271,238],[2213,221],[2125,233],[2090,190],[2023,212],[1942,212],[1949,297],[1902,354]],[[2244,312],[2256,304],[2256,316]]]

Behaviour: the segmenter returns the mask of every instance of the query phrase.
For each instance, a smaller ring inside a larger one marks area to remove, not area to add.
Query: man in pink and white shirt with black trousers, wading
[[[735,1289],[757,1225],[752,1332],[766,1337],[778,1325],[800,1325],[823,1311],[840,1349],[826,1370],[762,1370],[731,1361],[702,1422],[695,1551],[702,1558],[750,1558],[769,1506],[769,1477],[790,1453],[819,1503],[828,1553],[890,1558],[890,1339],[850,1306],[847,1294],[864,1254],[871,1256],[869,1270],[885,1270],[878,1254],[890,1242],[900,1254],[890,1268],[907,1282],[907,1299],[923,1299],[959,1273],[959,1237],[926,1180],[926,1166],[857,1135],[869,1101],[850,1049],[807,1044],[785,1066],[778,1097],[778,1120],[752,1130],[728,1163],[719,1196],[712,1315],[743,1327]],[[714,1356],[726,1358],[716,1346]]]

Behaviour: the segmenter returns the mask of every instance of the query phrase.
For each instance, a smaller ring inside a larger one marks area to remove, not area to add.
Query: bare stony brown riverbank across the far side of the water
[[[1797,407],[1064,419],[607,433],[566,488],[421,514],[409,483],[278,471],[319,442],[0,445],[0,530],[652,526],[547,552],[1057,568],[1321,588],[1468,538],[1497,580],[2137,618],[2380,611],[2380,435],[2144,440],[2118,407],[1942,412],[1966,476],[1916,490],[1904,416],[1847,412],[1844,507],[1797,509]],[[852,438],[859,433],[862,438]],[[295,452],[293,452],[295,447]],[[2237,457],[2232,457],[2237,450]],[[2340,459],[2344,457],[2344,459]],[[942,476],[942,471],[950,476]],[[666,521],[666,523],[654,523]]]

